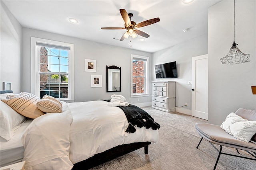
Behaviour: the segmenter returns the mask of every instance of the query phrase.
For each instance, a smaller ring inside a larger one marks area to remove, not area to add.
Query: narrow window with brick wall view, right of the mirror
[[[131,97],[148,96],[148,57],[132,55]]]

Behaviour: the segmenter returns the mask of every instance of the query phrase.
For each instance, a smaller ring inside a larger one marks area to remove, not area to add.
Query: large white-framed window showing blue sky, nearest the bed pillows
[[[32,93],[40,98],[47,94],[60,100],[72,100],[73,45],[34,37],[31,43],[34,49],[31,51]]]

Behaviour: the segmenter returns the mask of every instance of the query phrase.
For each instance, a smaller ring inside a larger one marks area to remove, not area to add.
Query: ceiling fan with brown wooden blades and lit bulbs
[[[131,21],[131,18],[133,16],[132,13],[127,14],[126,10],[120,9],[120,14],[125,22],[124,27],[102,27],[101,28],[101,29],[127,29],[127,31],[121,37],[120,41],[123,41],[125,38],[127,39],[129,35],[132,36],[132,38],[135,38],[137,37],[137,34],[142,37],[148,38],[150,35],[148,35],[147,33],[144,33],[143,31],[138,30],[137,28],[151,25],[153,23],[160,21],[159,18],[153,18],[151,20],[146,20],[136,24],[136,22]]]

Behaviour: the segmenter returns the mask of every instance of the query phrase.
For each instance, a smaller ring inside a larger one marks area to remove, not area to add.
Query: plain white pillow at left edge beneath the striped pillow
[[[14,130],[26,117],[17,113],[2,101],[0,101],[0,108],[0,136],[9,141],[14,135]]]

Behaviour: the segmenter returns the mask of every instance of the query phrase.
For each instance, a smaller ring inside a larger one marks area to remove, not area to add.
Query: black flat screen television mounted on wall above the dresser
[[[155,65],[156,78],[177,78],[176,61]]]

